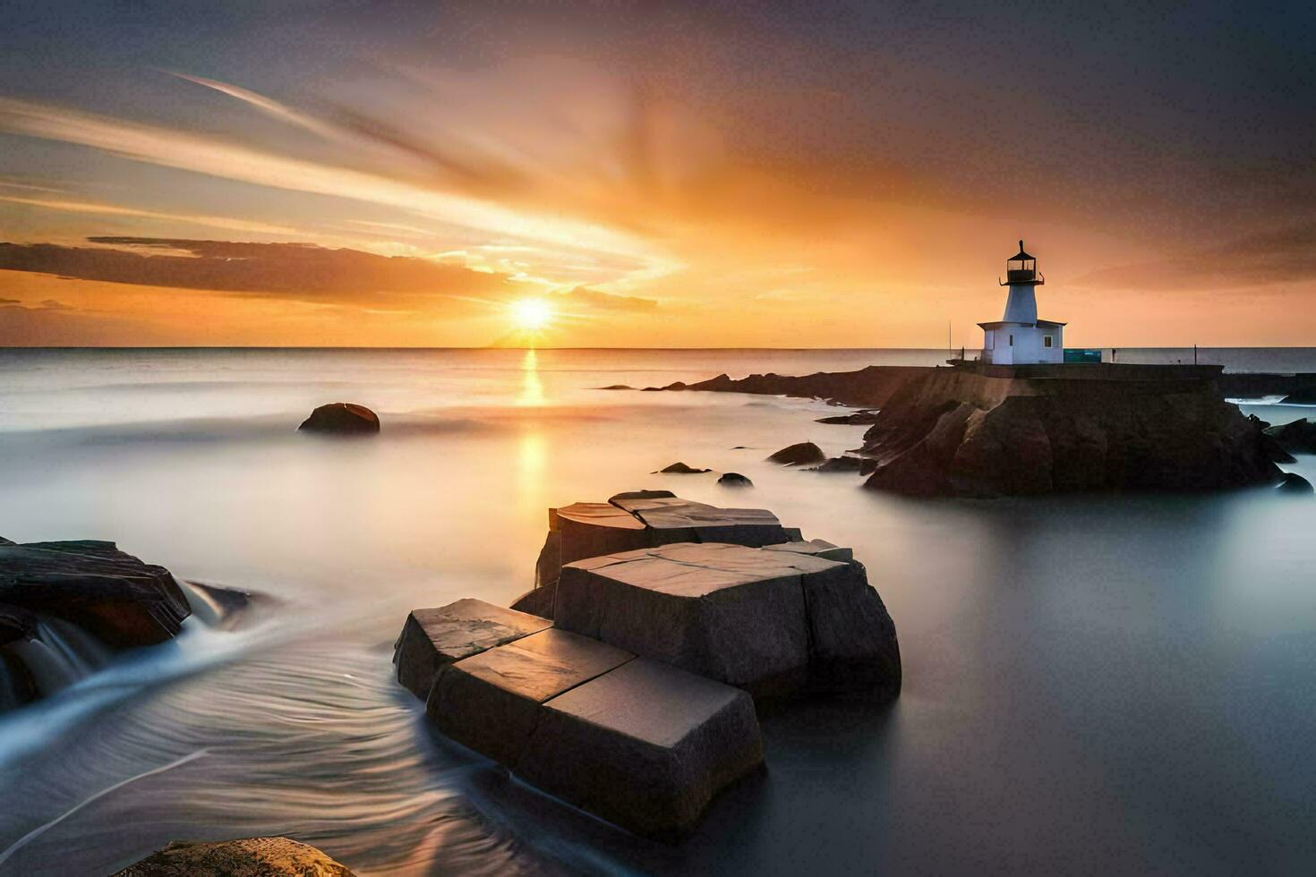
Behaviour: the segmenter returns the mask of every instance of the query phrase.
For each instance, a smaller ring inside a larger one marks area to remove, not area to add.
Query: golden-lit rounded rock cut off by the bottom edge
[[[174,841],[111,877],[353,877],[315,847],[287,838]]]

